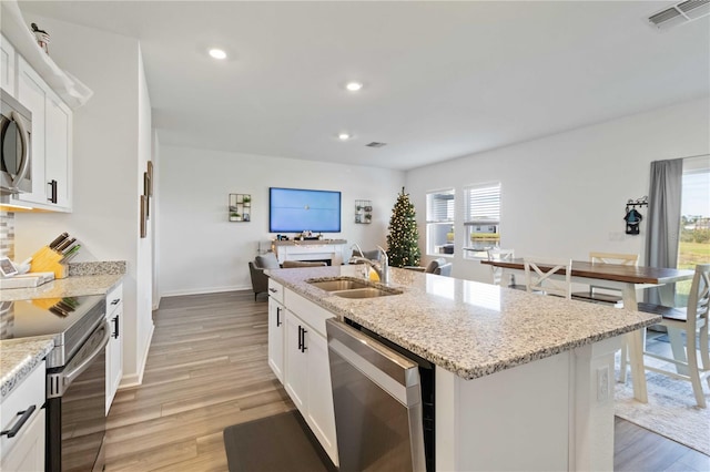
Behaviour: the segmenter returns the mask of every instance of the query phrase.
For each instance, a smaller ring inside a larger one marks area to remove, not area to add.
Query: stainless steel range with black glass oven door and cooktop
[[[47,356],[45,471],[100,471],[105,432],[105,347],[111,329],[102,296],[2,302],[0,335],[52,335]]]

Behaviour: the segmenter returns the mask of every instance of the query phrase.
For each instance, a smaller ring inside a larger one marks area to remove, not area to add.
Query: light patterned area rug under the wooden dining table
[[[616,383],[616,415],[710,455],[710,409],[698,408],[690,382],[655,372],[647,372],[646,379],[648,403],[633,399],[630,378]],[[703,383],[710,406],[708,384]]]

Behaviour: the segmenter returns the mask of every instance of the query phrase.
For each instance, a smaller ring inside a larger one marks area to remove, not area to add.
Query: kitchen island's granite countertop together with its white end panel
[[[436,366],[436,470],[613,468],[613,355],[658,317],[390,270],[400,294],[367,299],[307,281],[353,277],[353,266],[268,275]]]

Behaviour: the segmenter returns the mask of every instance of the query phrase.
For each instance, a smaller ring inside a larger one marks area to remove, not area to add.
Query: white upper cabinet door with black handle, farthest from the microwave
[[[71,209],[71,122],[69,106],[53,92],[47,95],[44,182],[48,203]]]

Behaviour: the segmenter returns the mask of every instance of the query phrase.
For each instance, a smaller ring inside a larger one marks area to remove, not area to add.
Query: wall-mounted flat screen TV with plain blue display
[[[268,232],[306,230],[341,232],[341,193],[271,187],[268,189]]]

